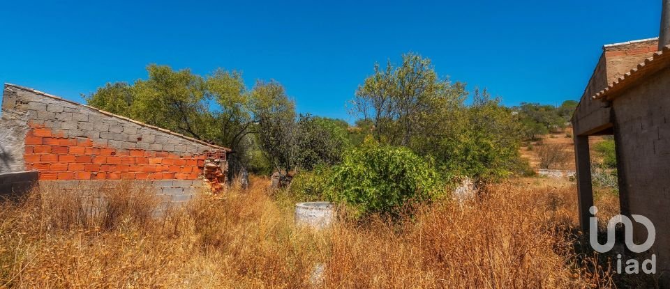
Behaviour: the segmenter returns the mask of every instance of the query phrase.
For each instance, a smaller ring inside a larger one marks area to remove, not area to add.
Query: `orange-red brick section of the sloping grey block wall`
[[[24,160],[40,180],[195,180],[202,155],[174,155],[140,149],[107,148],[87,138],[67,138],[29,124]]]

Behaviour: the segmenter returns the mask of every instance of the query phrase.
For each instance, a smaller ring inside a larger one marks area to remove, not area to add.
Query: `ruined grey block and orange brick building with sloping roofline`
[[[187,201],[204,185],[206,162],[207,182],[225,182],[229,152],[31,88],[4,86],[0,195],[36,180],[91,189],[132,180],[173,202]]]

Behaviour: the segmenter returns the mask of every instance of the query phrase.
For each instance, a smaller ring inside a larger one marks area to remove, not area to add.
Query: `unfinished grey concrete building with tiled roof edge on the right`
[[[666,1],[667,2],[667,1]],[[667,19],[664,7],[663,19]],[[662,26],[663,27],[663,26]],[[641,214],[656,229],[648,253],[657,256],[661,286],[670,285],[670,46],[657,38],[605,45],[572,117],[579,219],[588,232],[593,189],[588,137],[616,142],[621,214]],[[665,30],[667,33],[667,29]],[[634,223],[636,244],[648,232]],[[623,241],[623,240],[620,240]]]

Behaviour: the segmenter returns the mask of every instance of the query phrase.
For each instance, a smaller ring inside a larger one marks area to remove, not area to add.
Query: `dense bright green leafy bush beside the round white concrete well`
[[[433,161],[408,148],[366,146],[348,150],[332,168],[331,201],[351,205],[357,214],[397,216],[409,202],[431,201],[444,192]]]

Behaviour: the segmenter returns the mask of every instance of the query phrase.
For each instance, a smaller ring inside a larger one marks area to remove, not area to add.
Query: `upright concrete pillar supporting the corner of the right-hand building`
[[[579,202],[579,224],[588,232],[588,211],[593,206],[593,186],[591,183],[591,158],[588,152],[588,136],[574,137],[574,158],[577,176],[577,201]]]

